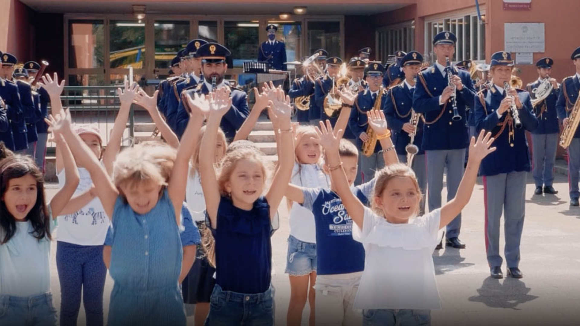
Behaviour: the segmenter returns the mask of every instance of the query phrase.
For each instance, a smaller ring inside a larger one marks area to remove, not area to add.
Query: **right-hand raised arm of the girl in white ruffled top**
[[[463,173],[461,183],[459,183],[457,194],[455,195],[455,198],[441,207],[440,229],[455,219],[455,217],[461,213],[463,207],[467,205],[467,202],[469,202],[473,193],[473,187],[475,186],[477,171],[479,170],[481,160],[483,160],[487,154],[495,151],[495,147],[490,147],[493,142],[494,138],[491,137],[491,132],[488,132],[486,135],[484,130],[481,130],[477,140],[475,137],[472,137],[469,144],[467,168],[465,169],[465,173]]]

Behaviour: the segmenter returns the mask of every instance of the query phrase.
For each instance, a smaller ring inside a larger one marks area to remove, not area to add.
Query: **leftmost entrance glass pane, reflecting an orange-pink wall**
[[[68,67],[103,67],[104,24],[102,20],[70,20],[68,23]]]

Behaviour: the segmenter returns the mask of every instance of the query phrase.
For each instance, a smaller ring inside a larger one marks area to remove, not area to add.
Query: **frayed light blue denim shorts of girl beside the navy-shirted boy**
[[[316,271],[316,244],[288,237],[288,255],[285,273],[304,276]]]

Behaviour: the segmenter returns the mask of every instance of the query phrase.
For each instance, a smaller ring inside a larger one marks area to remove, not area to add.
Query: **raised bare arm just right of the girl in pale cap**
[[[121,108],[119,108],[119,113],[115,119],[113,131],[111,131],[111,137],[107,144],[107,150],[103,154],[103,165],[107,170],[107,174],[110,176],[113,175],[113,162],[117,154],[119,154],[119,150],[121,150],[121,139],[125,132],[125,126],[129,119],[129,113],[131,112],[131,104],[137,94],[137,90],[139,90],[139,85],[136,82],[133,82],[133,85],[130,86],[126,83],[124,91],[120,88],[117,89],[119,100],[121,100]]]

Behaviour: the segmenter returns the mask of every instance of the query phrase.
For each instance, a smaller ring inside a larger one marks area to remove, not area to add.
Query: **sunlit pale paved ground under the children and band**
[[[557,195],[533,195],[528,178],[520,269],[524,278],[494,280],[489,277],[484,248],[483,186],[478,182],[472,201],[463,211],[461,240],[467,248],[433,253],[442,310],[432,312],[433,325],[580,325],[580,209],[569,207],[568,184],[556,176]],[[49,197],[55,186],[48,186]],[[443,194],[445,198],[445,194]],[[276,287],[276,324],[285,325],[289,300],[284,274],[288,237],[285,205],[281,227],[272,238]],[[503,235],[501,244],[503,245]],[[60,288],[53,243],[51,285],[60,307]],[[396,262],[393,262],[396,263]],[[505,265],[502,267],[505,275]],[[105,315],[113,280],[107,278]],[[308,307],[303,314],[307,325]],[[193,317],[188,319],[193,325]],[[79,325],[84,325],[81,308]]]

